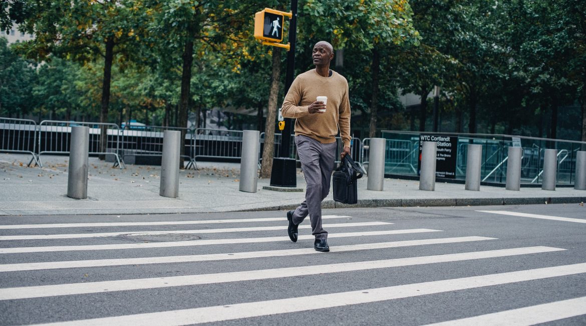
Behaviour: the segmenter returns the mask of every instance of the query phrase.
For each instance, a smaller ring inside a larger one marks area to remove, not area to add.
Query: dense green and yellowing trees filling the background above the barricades
[[[35,38],[9,46],[0,33],[0,114],[186,127],[191,113],[203,127],[219,110],[223,127],[263,131],[271,70],[285,56],[253,38],[253,16],[287,6],[3,1],[0,29],[15,23]],[[585,12],[575,0],[300,1],[295,73],[312,69],[315,42],[331,42],[360,137],[431,131],[439,86],[441,131],[586,141]],[[416,105],[401,103],[408,93]]]

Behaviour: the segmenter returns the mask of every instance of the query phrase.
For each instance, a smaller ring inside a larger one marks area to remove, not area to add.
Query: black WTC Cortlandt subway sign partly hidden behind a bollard
[[[421,150],[424,141],[434,141],[436,144],[435,176],[437,178],[456,178],[456,160],[458,158],[458,136],[455,135],[419,135],[419,160],[417,171],[421,172]]]

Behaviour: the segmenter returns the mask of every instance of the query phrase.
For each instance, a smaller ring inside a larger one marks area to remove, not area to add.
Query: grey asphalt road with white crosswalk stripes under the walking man
[[[586,324],[584,206],[323,213],[3,216],[0,324]]]

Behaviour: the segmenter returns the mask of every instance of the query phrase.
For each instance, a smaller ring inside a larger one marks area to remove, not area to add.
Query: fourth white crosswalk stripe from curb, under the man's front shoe
[[[420,246],[424,244],[458,243],[469,241],[496,240],[494,237],[467,236],[467,237],[445,237],[439,239],[406,240],[394,242],[349,244],[346,246],[331,247],[331,252],[349,252],[354,250],[384,249],[406,246]],[[41,263],[19,263],[0,264],[2,271],[25,271],[43,269],[70,269],[76,267],[102,267],[102,266],[123,266],[161,263],[187,263],[187,262],[210,262],[212,260],[250,259],[261,257],[294,256],[299,254],[316,254],[313,248],[265,250],[258,252],[239,253],[213,253],[194,254],[189,256],[166,256],[166,257],[142,257],[123,259],[96,259],[96,260],[70,260],[68,262],[41,262]]]

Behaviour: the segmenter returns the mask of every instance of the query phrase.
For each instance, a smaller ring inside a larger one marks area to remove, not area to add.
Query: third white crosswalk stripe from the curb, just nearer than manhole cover
[[[328,239],[335,237],[355,237],[355,236],[382,236],[382,235],[402,235],[408,233],[424,232],[441,232],[433,229],[404,229],[404,230],[379,230],[364,232],[347,232],[331,233]],[[313,240],[315,236],[302,235],[299,240]],[[238,239],[210,239],[210,240],[189,240],[176,242],[149,242],[149,243],[120,243],[120,244],[87,244],[84,246],[47,246],[47,247],[15,247],[0,248],[0,254],[4,253],[35,253],[35,252],[68,252],[79,250],[114,250],[114,249],[147,249],[162,247],[186,247],[186,246],[205,246],[209,244],[234,244],[234,243],[261,243],[275,241],[291,241],[288,236],[274,237],[246,237]]]

